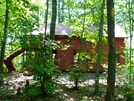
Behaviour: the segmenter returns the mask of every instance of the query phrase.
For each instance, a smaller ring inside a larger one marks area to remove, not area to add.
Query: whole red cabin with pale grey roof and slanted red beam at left
[[[47,33],[50,25],[47,27]],[[93,27],[89,27],[89,30],[94,30]],[[38,33],[44,33],[44,25],[39,28],[39,31],[32,32],[33,35],[38,35]],[[83,71],[95,72],[96,68],[96,57],[97,57],[97,44],[87,41],[85,38],[80,39],[80,37],[72,36],[72,29],[63,24],[56,24],[55,30],[55,40],[60,41],[60,47],[57,50],[53,50],[55,55],[57,69],[61,71],[66,71],[68,69],[74,69],[80,67]],[[107,36],[105,36],[107,38]],[[116,52],[117,52],[117,63],[123,65],[125,63],[122,47],[125,46],[124,39],[126,38],[126,33],[118,26],[115,26],[115,40],[116,40]],[[6,60],[4,60],[9,71],[14,71],[12,59],[19,54],[26,51],[26,49],[19,50],[14,53]],[[79,55],[80,52],[80,55]],[[104,72],[107,67],[107,55],[108,55],[108,43],[103,43],[102,55],[101,55],[101,67],[100,72]],[[79,62],[78,62],[79,61]],[[79,66],[78,66],[79,65]]]

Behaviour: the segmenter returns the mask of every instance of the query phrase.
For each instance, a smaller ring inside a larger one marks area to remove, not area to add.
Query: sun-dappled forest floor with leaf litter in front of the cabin
[[[36,98],[34,96],[26,96],[25,94],[16,95],[17,89],[25,87],[26,80],[30,84],[34,81],[33,76],[23,76],[23,73],[10,73],[6,74],[4,78],[4,85],[0,88],[0,101],[104,101],[106,94],[106,75],[100,74],[99,80],[99,93],[94,95],[94,73],[83,73],[79,83],[78,90],[73,89],[74,83],[69,81],[68,74],[59,76],[56,80],[57,90],[55,96],[48,96],[45,98]],[[124,91],[122,90],[123,80],[116,80],[115,87],[115,100],[126,101],[124,98]]]

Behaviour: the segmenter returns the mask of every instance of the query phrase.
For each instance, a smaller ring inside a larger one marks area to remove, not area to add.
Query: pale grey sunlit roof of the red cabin
[[[90,31],[98,30],[98,28],[96,28],[95,26],[90,26],[88,28]],[[33,31],[32,34],[38,35],[38,33],[44,33],[44,32],[45,32],[45,24],[42,24],[39,27],[39,30]],[[72,32],[73,32],[73,30],[71,27],[61,24],[61,23],[56,24],[55,35],[69,35]],[[50,34],[50,24],[47,24],[46,33]],[[107,36],[106,33],[104,33],[104,35]],[[125,33],[125,31],[119,25],[115,25],[115,37],[117,37],[117,38],[126,38],[127,37],[127,34]]]

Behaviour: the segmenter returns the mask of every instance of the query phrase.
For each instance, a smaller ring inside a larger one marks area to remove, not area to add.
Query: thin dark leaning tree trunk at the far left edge
[[[6,0],[6,15],[5,15],[5,25],[4,25],[4,36],[1,47],[1,57],[0,57],[0,74],[3,73],[3,60],[5,55],[6,40],[7,40],[7,28],[8,28],[8,13],[9,13],[9,0]],[[3,78],[0,77],[0,83]],[[1,85],[1,84],[0,84]]]

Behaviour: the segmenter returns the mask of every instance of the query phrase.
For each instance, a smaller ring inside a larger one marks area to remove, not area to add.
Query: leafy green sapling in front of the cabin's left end
[[[52,76],[54,71],[56,71],[56,66],[54,61],[49,60],[49,48],[54,49],[54,45],[56,45],[55,41],[51,40],[43,40],[42,35],[40,36],[32,36],[32,38],[27,42],[27,48],[29,49],[28,60],[23,63],[23,65],[28,67],[32,67],[29,71],[30,74],[34,75],[35,84],[26,87],[26,91],[28,94],[32,95],[46,95],[48,93],[53,93],[55,91],[55,87],[53,85]],[[40,43],[40,44],[39,44]],[[26,48],[26,46],[24,46]]]

